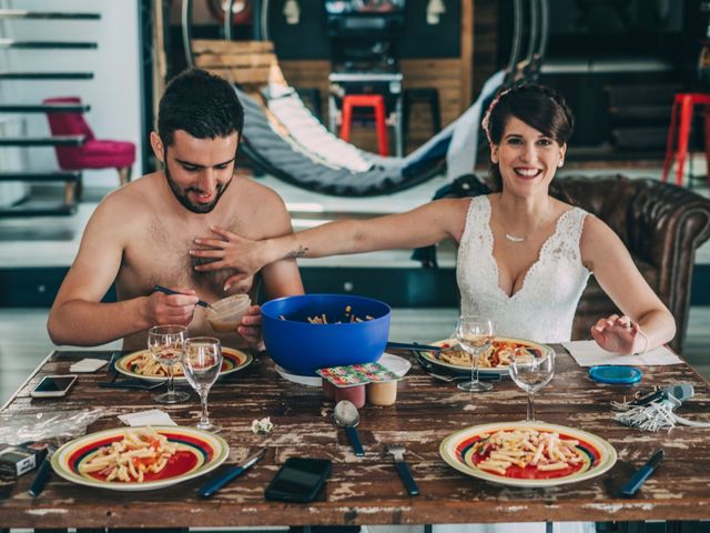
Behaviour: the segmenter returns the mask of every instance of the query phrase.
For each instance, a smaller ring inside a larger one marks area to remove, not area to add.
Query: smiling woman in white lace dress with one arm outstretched
[[[544,86],[519,86],[493,101],[483,125],[499,192],[437,200],[369,220],[338,220],[263,241],[212,228],[214,234],[197,239],[190,253],[213,262],[195,269],[234,269],[229,286],[284,258],[419,248],[453,239],[459,244],[462,312],[489,316],[497,334],[569,341],[577,303],[594,273],[623,313],[601,316],[591,328],[601,348],[630,354],[670,341],[674,320],[617,234],[549,194],[574,128],[564,99]]]

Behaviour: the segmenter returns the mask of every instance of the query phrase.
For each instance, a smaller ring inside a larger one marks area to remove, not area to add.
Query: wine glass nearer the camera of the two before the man
[[[185,378],[200,394],[202,416],[195,424],[201,430],[216,431],[221,428],[207,416],[207,394],[217,381],[222,369],[222,345],[212,336],[194,336],[185,341],[182,352],[182,368]]]

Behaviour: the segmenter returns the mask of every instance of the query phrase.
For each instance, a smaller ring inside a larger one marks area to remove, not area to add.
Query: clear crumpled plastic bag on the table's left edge
[[[0,443],[16,445],[48,439],[73,439],[83,435],[87,428],[104,414],[104,409],[0,414]]]

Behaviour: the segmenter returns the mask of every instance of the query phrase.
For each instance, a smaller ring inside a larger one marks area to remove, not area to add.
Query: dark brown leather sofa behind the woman
[[[487,191],[488,183],[469,174],[437,197]],[[657,180],[623,175],[557,178],[550,192],[596,214],[621,238],[648,283],[676,318],[678,331],[670,346],[681,353],[696,249],[710,238],[710,200]],[[426,253],[415,253],[415,258],[436,264],[435,258],[427,260]],[[591,276],[577,308],[572,340],[589,339],[589,329],[597,320],[618,312]]]

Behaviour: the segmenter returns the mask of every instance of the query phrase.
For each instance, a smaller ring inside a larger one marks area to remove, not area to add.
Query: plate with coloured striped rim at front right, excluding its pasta
[[[497,432],[535,430],[539,433],[555,433],[561,441],[570,443],[574,450],[574,464],[567,467],[542,471],[536,465],[511,464],[501,472],[484,470],[479,465],[490,459],[490,451],[481,451],[484,442]],[[439,453],[454,469],[486,481],[511,486],[545,487],[589,480],[607,472],[617,462],[617,452],[611,444],[591,433],[564,425],[545,422],[501,422],[483,424],[457,431],[444,439]]]

